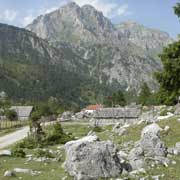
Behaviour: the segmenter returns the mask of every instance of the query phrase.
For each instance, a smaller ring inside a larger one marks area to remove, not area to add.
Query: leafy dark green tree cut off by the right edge
[[[174,10],[180,18],[180,3],[177,3]],[[177,98],[180,96],[180,40],[165,48],[160,57],[164,70],[156,73],[160,84],[158,101],[173,105],[177,103]]]

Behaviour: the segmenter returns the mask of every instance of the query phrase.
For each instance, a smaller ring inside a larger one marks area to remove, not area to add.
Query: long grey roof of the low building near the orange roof
[[[139,108],[102,108],[95,112],[95,118],[138,118]]]

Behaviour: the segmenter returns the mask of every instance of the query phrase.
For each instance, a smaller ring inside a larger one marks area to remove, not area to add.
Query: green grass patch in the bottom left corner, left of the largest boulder
[[[68,176],[64,169],[62,168],[63,162],[52,162],[52,163],[39,163],[39,162],[26,162],[26,159],[23,158],[10,158],[10,157],[1,157],[0,158],[0,179],[9,180],[9,179],[19,179],[22,177],[24,180],[58,180],[64,176]],[[31,176],[29,174],[19,174],[16,173],[17,177],[8,178],[3,177],[6,170],[13,170],[14,168],[27,168],[36,171],[41,171],[42,173],[38,176]],[[68,180],[72,180],[68,176]]]

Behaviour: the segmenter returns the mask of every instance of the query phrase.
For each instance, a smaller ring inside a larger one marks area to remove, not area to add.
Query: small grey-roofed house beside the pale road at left
[[[17,113],[18,120],[28,120],[30,118],[33,106],[12,106],[10,108]]]

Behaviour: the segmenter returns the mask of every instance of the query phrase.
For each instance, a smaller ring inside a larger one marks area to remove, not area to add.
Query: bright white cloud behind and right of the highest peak
[[[129,11],[127,4],[120,5],[117,1],[104,1],[104,0],[73,0],[79,6],[90,4],[97,10],[102,11],[106,17],[113,18],[116,16],[124,16],[132,14]]]

